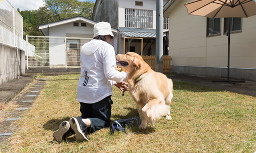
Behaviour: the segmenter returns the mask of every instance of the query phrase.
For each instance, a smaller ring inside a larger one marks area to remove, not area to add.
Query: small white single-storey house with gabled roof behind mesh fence
[[[78,15],[77,17],[39,25],[38,29],[41,30],[42,34],[50,36],[50,68],[62,68],[65,65],[79,67],[81,47],[93,38],[93,26],[96,23],[96,21]],[[112,30],[113,33],[117,33],[117,29],[113,28]]]

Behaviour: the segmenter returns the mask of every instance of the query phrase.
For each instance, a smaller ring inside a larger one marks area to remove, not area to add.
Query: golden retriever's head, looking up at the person
[[[142,57],[134,52],[128,52],[125,55],[116,55],[116,65],[126,69],[128,72],[132,70],[139,70],[143,65],[144,61]]]

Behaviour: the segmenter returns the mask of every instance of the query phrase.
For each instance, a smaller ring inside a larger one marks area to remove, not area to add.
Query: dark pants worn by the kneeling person
[[[111,95],[96,103],[80,102],[80,104],[81,117],[91,120],[91,127],[88,133],[110,126],[111,104],[113,104]]]

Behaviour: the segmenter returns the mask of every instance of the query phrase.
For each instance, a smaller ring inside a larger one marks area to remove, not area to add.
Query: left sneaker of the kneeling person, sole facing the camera
[[[59,129],[55,132],[53,132],[53,138],[57,141],[57,142],[61,142],[63,135],[69,130],[70,128],[70,124],[67,121],[63,121],[61,122]]]

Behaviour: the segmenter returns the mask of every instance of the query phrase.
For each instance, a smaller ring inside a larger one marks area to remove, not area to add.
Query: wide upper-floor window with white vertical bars
[[[153,28],[153,11],[125,9],[125,27]]]

